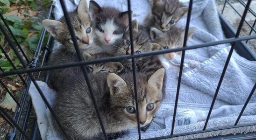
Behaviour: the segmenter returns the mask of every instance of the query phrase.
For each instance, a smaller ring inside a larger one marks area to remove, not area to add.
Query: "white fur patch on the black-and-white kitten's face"
[[[122,37],[122,34],[120,35],[114,35],[114,31],[118,29],[118,26],[114,23],[114,20],[107,20],[105,24],[101,24],[100,27],[104,30],[104,33],[101,33],[99,30],[95,31],[95,34],[97,35],[97,40],[100,41],[102,44],[109,45],[113,44],[116,39],[120,39]],[[109,40],[109,42],[106,42],[106,40]]]

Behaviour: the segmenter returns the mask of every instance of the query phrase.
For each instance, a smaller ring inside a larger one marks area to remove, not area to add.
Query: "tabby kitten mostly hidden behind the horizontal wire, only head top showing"
[[[110,55],[107,55],[104,53],[98,53],[92,56],[88,53],[83,53],[83,56],[84,58],[86,58],[86,60],[94,60],[94,59],[111,57]],[[110,73],[110,72],[120,73],[123,70],[123,65],[119,62],[94,63],[94,64],[86,65],[86,69],[88,72],[92,74]]]

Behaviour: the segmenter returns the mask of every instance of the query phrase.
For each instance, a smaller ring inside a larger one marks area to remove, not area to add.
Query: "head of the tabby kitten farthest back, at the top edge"
[[[152,0],[152,15],[156,28],[168,31],[188,11],[179,0]]]

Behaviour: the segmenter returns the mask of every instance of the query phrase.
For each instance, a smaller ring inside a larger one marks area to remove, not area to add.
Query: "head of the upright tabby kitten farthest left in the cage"
[[[69,12],[69,17],[80,49],[89,48],[93,42],[93,28],[89,10],[86,6],[86,0],[81,0],[78,8],[74,12]],[[70,51],[75,52],[71,34],[64,17],[59,21],[43,20],[42,23],[43,27],[58,42],[64,44]]]

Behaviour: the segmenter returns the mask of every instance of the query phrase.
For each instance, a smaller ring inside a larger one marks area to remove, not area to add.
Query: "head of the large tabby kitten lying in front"
[[[114,73],[107,76],[110,91],[110,106],[116,117],[130,126],[137,125],[133,78],[130,74],[119,77]],[[139,118],[141,126],[149,124],[162,100],[164,69],[159,69],[149,78],[137,75]],[[125,80],[125,81],[124,81]]]

